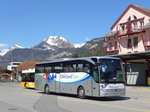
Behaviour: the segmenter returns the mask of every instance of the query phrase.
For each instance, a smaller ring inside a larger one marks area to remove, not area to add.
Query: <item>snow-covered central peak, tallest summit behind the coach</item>
[[[59,48],[74,48],[74,45],[63,37],[49,36],[33,48],[55,50]]]

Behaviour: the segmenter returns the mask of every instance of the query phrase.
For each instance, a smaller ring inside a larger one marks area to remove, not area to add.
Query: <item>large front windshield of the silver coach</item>
[[[101,83],[124,83],[124,73],[119,59],[100,59]]]

